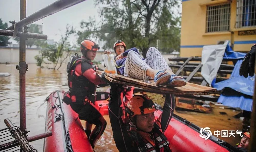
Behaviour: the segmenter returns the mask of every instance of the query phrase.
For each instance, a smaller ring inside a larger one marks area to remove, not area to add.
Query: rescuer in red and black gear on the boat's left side
[[[85,132],[92,148],[106,128],[105,119],[93,105],[96,85],[107,85],[96,74],[96,67],[92,62],[99,49],[98,44],[91,40],[82,41],[80,50],[83,56],[71,57],[71,64],[67,66],[69,92],[66,92],[63,98],[63,102],[70,104],[78,113],[79,119],[86,120]],[[91,131],[92,124],[96,125],[93,131]]]

